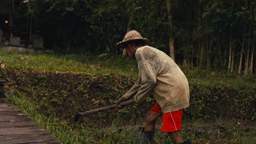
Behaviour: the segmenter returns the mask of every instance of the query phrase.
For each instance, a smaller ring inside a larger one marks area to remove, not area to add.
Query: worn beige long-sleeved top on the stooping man
[[[188,80],[169,56],[150,46],[139,47],[135,56],[139,70],[138,80],[118,101],[134,95],[135,102],[142,103],[152,92],[164,113],[189,106]]]

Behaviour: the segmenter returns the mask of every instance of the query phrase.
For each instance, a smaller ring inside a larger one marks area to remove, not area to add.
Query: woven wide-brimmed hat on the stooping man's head
[[[149,44],[149,40],[146,38],[143,38],[141,34],[139,34],[137,31],[130,31],[125,34],[125,37],[122,41],[117,43],[117,47],[123,47],[124,43],[129,43],[132,40],[142,40],[145,45]]]

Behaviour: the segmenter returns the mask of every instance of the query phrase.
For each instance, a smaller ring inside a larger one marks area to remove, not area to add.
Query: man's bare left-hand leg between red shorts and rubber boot
[[[162,115],[160,112],[149,111],[146,116],[145,131],[155,131],[156,120]]]

